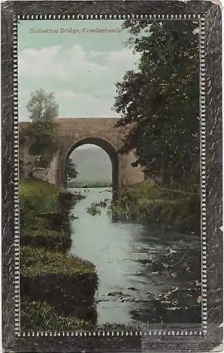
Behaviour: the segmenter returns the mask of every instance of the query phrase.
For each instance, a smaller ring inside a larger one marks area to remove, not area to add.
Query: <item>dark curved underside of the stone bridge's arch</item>
[[[73,151],[75,151],[77,148],[79,148],[82,145],[95,145],[108,155],[109,159],[111,160],[111,172],[112,172],[112,190],[113,190],[113,199],[118,198],[119,195],[119,161],[118,161],[118,152],[116,149],[108,143],[106,140],[103,140],[101,138],[85,138],[82,140],[79,140],[77,143],[74,143],[74,145],[68,150],[66,154],[66,160],[65,164],[63,166],[64,172],[63,172],[63,185],[67,186],[67,177],[66,177],[66,164],[68,161],[68,158],[72,154]],[[78,166],[77,166],[78,167]]]

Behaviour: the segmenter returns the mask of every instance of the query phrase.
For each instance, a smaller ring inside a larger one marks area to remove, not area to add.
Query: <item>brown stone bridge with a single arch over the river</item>
[[[92,143],[103,148],[111,159],[113,191],[119,191],[139,181],[144,174],[139,168],[133,168],[134,152],[120,155],[118,152],[127,128],[115,126],[118,119],[113,118],[61,118],[58,123],[59,148],[51,162],[51,166],[41,179],[51,184],[66,186],[66,161],[75,148],[85,143]],[[25,128],[29,123],[20,123]],[[29,154],[26,143],[20,143],[20,153],[23,163],[27,164]],[[24,169],[25,170],[25,169]],[[38,171],[37,171],[38,173]],[[39,171],[40,173],[40,171]],[[23,174],[26,174],[24,172]]]

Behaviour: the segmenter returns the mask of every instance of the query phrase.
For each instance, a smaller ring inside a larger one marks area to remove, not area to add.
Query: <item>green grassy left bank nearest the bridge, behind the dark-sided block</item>
[[[20,179],[22,246],[30,245],[57,251],[66,251],[70,248],[68,213],[60,203],[66,195],[68,193],[65,193],[63,188],[45,181],[33,178]]]

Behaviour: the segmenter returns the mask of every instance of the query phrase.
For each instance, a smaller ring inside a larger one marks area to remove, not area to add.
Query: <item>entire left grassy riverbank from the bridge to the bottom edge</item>
[[[51,330],[96,321],[95,267],[68,253],[69,210],[80,198],[38,179],[20,179],[22,330],[45,330],[48,321]]]

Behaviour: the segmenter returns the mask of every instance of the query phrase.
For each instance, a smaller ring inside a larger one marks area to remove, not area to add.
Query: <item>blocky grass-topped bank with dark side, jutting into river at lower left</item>
[[[24,246],[21,251],[21,295],[46,302],[58,315],[89,316],[97,289],[95,266],[58,251]]]

